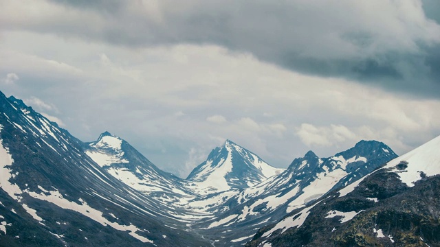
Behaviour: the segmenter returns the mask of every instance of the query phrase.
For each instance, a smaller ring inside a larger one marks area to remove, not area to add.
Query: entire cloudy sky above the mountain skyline
[[[0,0],[0,90],[181,177],[225,139],[404,154],[440,134],[440,2]]]

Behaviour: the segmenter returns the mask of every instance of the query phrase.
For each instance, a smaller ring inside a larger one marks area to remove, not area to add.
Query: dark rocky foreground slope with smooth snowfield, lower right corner
[[[440,246],[440,137],[295,209],[247,246]]]

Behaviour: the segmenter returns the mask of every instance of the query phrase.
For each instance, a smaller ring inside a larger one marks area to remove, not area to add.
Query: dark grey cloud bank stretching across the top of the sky
[[[135,47],[213,43],[302,73],[439,97],[439,72],[433,68],[440,60],[440,33],[432,34],[432,38],[428,32],[440,32],[440,26],[411,23],[423,20],[406,16],[405,10],[399,9],[404,3],[387,5],[384,1],[388,9],[380,10],[351,1],[53,1],[94,10],[99,18],[88,16],[84,20],[91,23],[67,21],[67,28],[50,27],[54,24],[37,27],[44,32],[69,36],[74,32]],[[420,14],[417,5],[412,7],[411,11]],[[433,12],[439,7],[436,1],[425,0],[423,7],[428,17],[439,15]],[[371,10],[376,13],[369,13]],[[384,23],[375,21],[375,14],[380,14],[378,18]]]

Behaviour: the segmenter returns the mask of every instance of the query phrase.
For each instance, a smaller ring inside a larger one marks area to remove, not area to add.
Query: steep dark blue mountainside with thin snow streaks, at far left
[[[0,93],[0,246],[207,246],[178,215],[86,155],[89,146]]]

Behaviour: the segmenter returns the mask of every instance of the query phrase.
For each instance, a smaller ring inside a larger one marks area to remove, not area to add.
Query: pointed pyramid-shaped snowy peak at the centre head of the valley
[[[195,167],[187,179],[206,193],[212,193],[252,187],[283,170],[227,140],[223,147],[212,150],[208,159]]]

